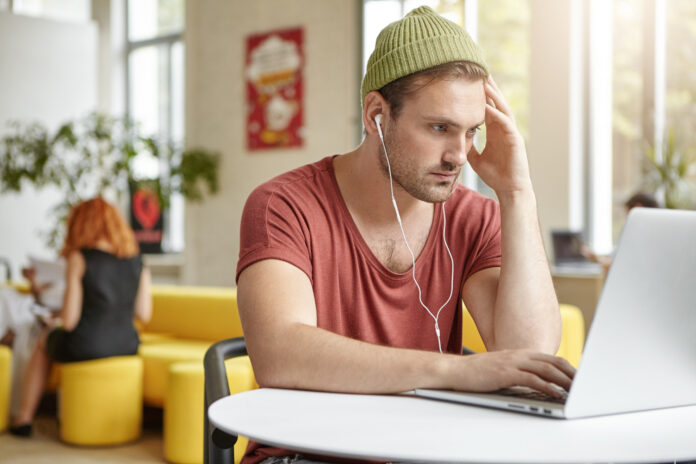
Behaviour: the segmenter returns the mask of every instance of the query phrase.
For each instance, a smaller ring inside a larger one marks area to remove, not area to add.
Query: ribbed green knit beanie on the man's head
[[[361,103],[365,95],[390,82],[452,61],[470,61],[488,73],[481,49],[461,26],[428,6],[418,7],[377,36],[363,77]]]

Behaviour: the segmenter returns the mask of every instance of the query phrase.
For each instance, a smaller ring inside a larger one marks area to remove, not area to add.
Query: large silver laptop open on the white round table
[[[696,211],[631,210],[564,404],[500,393],[415,391],[564,419],[696,404]]]

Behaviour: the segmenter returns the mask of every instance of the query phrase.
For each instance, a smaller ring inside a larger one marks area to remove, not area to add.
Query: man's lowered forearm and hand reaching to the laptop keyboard
[[[304,324],[283,332],[275,343],[248,338],[262,387],[388,394],[414,388],[495,391],[524,385],[558,395],[552,384],[567,389],[573,375],[567,361],[528,350],[442,355],[373,345]]]

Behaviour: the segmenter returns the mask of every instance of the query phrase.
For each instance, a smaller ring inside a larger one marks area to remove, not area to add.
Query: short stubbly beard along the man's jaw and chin
[[[420,173],[418,171],[418,166],[413,162],[401,159],[399,156],[399,154],[402,152],[401,145],[392,140],[392,138],[389,137],[389,134],[385,136],[384,144],[386,145],[389,153],[392,179],[395,184],[403,188],[409,195],[428,203],[441,203],[452,195],[452,192],[454,192],[454,187],[459,179],[459,168],[451,163],[443,163],[437,168],[429,168],[424,170],[423,173]],[[379,164],[382,168],[382,172],[386,178],[389,179],[389,165],[387,164],[387,159],[384,156],[384,148],[382,148],[381,144],[379,146],[379,152]],[[426,183],[428,173],[438,170],[446,172],[454,172],[456,170],[457,176],[451,182],[431,181]]]

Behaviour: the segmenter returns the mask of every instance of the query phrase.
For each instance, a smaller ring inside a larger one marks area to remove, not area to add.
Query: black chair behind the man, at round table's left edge
[[[234,444],[237,436],[212,426],[208,408],[215,401],[230,395],[225,360],[247,354],[244,338],[230,338],[215,343],[205,353],[205,410],[203,411],[203,463],[234,464]]]

